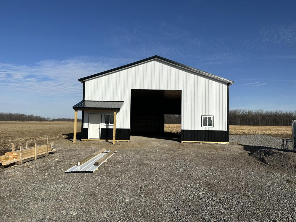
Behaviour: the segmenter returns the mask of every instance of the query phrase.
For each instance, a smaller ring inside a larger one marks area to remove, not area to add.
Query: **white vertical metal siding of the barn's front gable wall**
[[[182,129],[227,130],[227,84],[158,59],[87,80],[85,100],[124,101],[116,128],[130,128],[131,89],[182,90]],[[202,115],[213,115],[214,127],[202,127]]]

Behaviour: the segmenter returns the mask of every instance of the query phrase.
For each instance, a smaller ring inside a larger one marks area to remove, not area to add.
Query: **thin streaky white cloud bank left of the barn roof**
[[[108,70],[125,63],[125,59],[75,57],[43,60],[33,65],[0,63],[0,89],[66,96],[81,94],[78,78]],[[79,89],[79,90],[78,90]]]

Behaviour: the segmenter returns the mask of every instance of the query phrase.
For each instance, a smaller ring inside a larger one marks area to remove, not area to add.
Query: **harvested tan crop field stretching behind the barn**
[[[291,137],[290,126],[230,126],[230,134],[266,134]],[[77,123],[77,132],[81,130]],[[165,124],[165,131],[176,133],[181,130],[180,124]],[[29,141],[32,147],[49,140],[73,138],[73,122],[6,122],[0,121],[0,155],[10,150],[12,143],[18,148]]]

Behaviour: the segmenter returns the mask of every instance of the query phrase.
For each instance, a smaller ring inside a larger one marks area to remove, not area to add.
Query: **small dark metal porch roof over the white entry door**
[[[120,110],[123,101],[90,101],[82,100],[73,106],[74,110]]]

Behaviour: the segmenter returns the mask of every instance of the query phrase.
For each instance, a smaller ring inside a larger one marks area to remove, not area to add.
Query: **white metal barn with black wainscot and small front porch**
[[[182,142],[229,142],[229,85],[234,82],[159,56],[79,79],[82,140],[129,141],[161,133],[164,115],[181,115]]]

